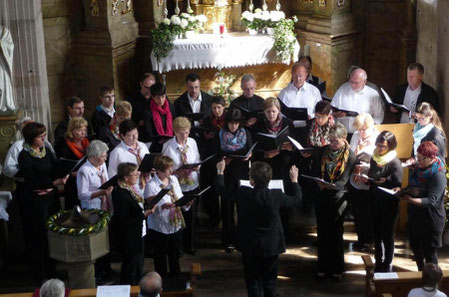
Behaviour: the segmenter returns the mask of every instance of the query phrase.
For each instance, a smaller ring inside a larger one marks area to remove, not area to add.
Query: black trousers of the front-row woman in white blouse
[[[161,277],[168,276],[168,259],[170,276],[179,276],[181,273],[181,266],[179,265],[181,231],[172,234],[164,234],[150,229],[149,234],[154,244],[154,270],[156,270]]]

